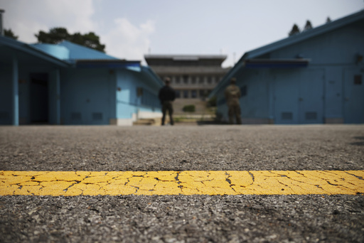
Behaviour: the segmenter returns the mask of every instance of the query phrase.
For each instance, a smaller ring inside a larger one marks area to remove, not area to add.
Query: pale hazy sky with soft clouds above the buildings
[[[224,54],[231,66],[245,52],[288,36],[294,23],[321,26],[364,9],[364,0],[0,0],[4,28],[18,41],[53,27],[95,32],[106,52]]]

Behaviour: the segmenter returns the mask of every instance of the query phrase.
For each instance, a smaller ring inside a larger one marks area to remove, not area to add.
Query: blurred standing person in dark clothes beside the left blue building
[[[168,111],[169,119],[171,121],[171,125],[173,125],[173,105],[172,102],[174,99],[176,99],[176,92],[172,89],[171,85],[171,79],[169,77],[166,77],[164,79],[164,87],[159,90],[159,100],[161,101],[162,105],[162,126],[164,125],[164,121],[166,119],[166,112]]]

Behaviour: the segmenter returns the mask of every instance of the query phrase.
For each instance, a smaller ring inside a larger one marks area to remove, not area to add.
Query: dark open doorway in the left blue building
[[[31,123],[48,124],[48,73],[31,74]]]

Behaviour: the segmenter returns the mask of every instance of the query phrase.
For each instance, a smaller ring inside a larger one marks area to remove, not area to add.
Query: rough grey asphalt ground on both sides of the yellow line
[[[363,171],[363,148],[363,125],[0,126],[0,171]],[[363,216],[363,193],[4,195],[0,242],[364,242]]]

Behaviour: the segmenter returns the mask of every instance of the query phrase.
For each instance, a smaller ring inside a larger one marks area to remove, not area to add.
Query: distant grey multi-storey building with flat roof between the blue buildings
[[[171,78],[177,99],[205,99],[229,68],[221,65],[226,55],[144,55],[162,80]]]

